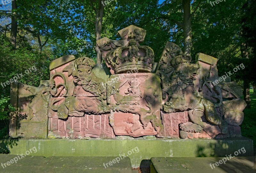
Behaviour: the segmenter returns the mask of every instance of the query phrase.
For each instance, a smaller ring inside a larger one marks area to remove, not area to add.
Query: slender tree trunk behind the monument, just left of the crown
[[[102,21],[103,21],[103,13],[104,13],[104,5],[99,0],[99,9],[96,12],[96,20],[95,20],[95,31],[96,31],[96,42],[101,39],[101,29],[102,29]],[[100,53],[100,48],[97,46],[95,47],[97,53],[97,64],[101,64],[102,56]]]

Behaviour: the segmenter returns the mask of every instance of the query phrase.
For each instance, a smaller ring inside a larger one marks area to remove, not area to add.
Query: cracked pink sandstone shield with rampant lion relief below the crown
[[[111,75],[108,104],[113,110],[110,124],[116,135],[156,135],[163,126],[160,118],[160,79],[150,73]]]

